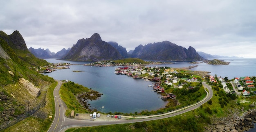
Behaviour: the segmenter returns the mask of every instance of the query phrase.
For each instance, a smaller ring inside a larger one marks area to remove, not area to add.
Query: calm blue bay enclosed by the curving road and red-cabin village
[[[50,63],[66,62],[72,64],[86,64],[88,62],[70,62],[46,59]],[[157,110],[164,108],[166,101],[163,101],[159,94],[152,91],[150,81],[133,79],[125,75],[116,75],[117,67],[94,67],[84,65],[70,65],[70,69],[56,70],[48,73],[56,80],[70,80],[91,88],[94,91],[103,93],[99,100],[89,101],[90,108],[108,112],[134,113],[142,110]],[[73,72],[78,70],[83,72]],[[104,106],[104,108],[102,108]]]

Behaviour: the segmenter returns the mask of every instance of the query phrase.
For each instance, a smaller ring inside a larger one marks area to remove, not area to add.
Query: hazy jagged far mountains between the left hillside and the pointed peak
[[[48,48],[46,50],[44,50],[41,48],[34,49],[34,48],[30,47],[29,52],[34,54],[34,56],[36,56],[37,58],[52,58],[52,56],[55,55],[55,53],[50,52]]]

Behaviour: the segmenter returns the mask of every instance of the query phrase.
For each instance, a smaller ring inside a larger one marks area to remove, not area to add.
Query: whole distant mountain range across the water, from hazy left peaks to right
[[[229,58],[196,52],[191,46],[186,49],[169,41],[139,45],[135,50],[127,52],[126,48],[118,45],[117,42],[102,41],[98,33],[94,33],[90,38],[79,39],[71,49],[63,48],[56,54],[49,49],[41,48],[30,47],[29,51],[38,58],[60,58],[68,61],[107,61],[123,58],[140,58],[150,61],[202,61],[204,58]]]

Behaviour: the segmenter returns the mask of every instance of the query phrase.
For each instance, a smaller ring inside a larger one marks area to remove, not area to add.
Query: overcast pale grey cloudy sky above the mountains
[[[27,48],[72,48],[99,33],[134,50],[170,41],[211,55],[256,58],[255,0],[0,0],[0,30]]]

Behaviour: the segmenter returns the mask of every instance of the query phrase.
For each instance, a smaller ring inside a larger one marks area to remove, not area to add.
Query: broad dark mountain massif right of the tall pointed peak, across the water
[[[154,61],[201,61],[204,59],[193,47],[186,49],[169,41],[139,45],[131,56]]]

